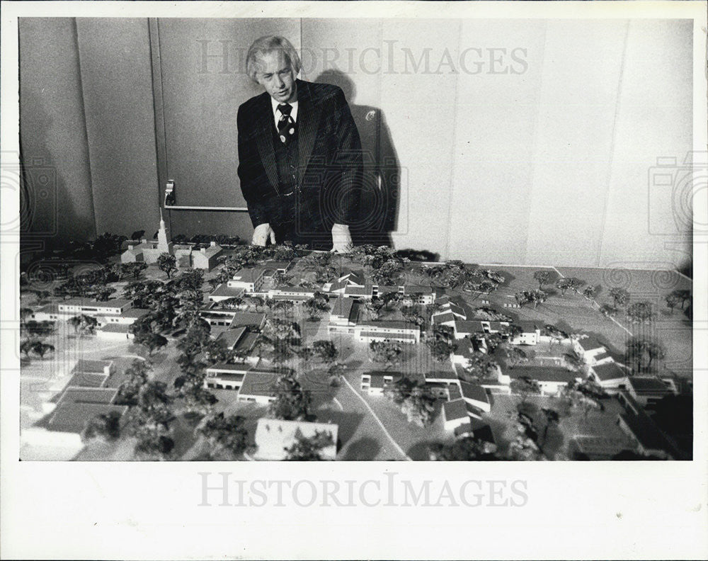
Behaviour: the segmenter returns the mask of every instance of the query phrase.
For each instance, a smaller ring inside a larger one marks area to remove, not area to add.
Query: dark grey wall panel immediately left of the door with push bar
[[[77,18],[98,233],[159,221],[147,18]]]

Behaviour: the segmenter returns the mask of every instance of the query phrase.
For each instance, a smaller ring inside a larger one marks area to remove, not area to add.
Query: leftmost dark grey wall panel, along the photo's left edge
[[[32,217],[23,232],[60,247],[96,235],[76,27],[73,18],[20,18],[18,26],[20,140]]]

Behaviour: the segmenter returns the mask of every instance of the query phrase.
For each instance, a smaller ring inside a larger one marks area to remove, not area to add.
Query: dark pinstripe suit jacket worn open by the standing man
[[[298,220],[315,232],[357,222],[362,154],[343,91],[297,80]],[[264,92],[239,107],[239,179],[253,227],[277,225],[283,198],[275,163],[273,107]]]

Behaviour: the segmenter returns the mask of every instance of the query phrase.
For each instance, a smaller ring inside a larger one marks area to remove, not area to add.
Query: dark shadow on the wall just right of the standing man
[[[361,137],[364,178],[360,223],[352,227],[355,245],[392,246],[391,232],[399,217],[401,168],[381,109],[354,103],[356,86],[341,70],[325,70],[316,82],[339,86],[344,92]]]

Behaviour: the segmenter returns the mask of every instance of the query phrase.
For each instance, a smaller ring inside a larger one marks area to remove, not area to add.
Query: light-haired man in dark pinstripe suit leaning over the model
[[[249,77],[265,89],[237,118],[253,244],[346,251],[362,176],[359,132],[342,90],[299,80],[299,69],[282,37],[262,37],[246,55]]]

